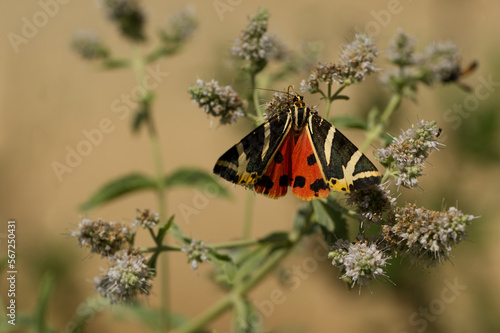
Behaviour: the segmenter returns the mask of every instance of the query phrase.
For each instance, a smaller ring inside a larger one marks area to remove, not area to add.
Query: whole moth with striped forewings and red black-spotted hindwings
[[[325,198],[380,183],[380,173],[335,126],[312,111],[297,93],[291,106],[226,151],[214,173],[271,198]]]

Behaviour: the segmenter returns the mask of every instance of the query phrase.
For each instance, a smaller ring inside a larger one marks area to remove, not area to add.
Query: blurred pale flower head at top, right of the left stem
[[[194,10],[185,8],[170,17],[167,28],[160,32],[160,36],[164,42],[180,43],[189,39],[197,27]]]

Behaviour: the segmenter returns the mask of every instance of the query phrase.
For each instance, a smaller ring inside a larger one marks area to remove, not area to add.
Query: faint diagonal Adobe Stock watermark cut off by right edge
[[[479,76],[479,84],[473,89],[473,94],[468,94],[462,103],[455,103],[443,113],[443,120],[452,123],[451,128],[456,130],[462,124],[464,119],[469,118],[472,112],[477,111],[481,101],[490,98],[496,87],[500,86],[500,81],[493,81],[493,75],[489,74],[487,78]],[[442,140],[446,140],[444,135]]]

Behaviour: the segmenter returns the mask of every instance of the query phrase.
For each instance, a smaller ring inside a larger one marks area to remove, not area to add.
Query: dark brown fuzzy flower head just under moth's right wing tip
[[[385,184],[352,191],[347,196],[347,203],[355,207],[364,221],[377,223],[384,219],[388,221],[394,219],[396,198],[390,196],[388,186]]]

